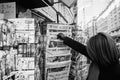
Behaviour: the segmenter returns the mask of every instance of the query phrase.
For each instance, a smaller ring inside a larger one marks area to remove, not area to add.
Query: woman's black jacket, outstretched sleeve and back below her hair
[[[83,45],[77,41],[74,41],[68,37],[64,38],[63,43],[68,45],[72,49],[78,51],[79,53],[85,55],[86,57],[88,57],[90,59],[85,45]],[[92,64],[94,64],[94,63],[92,63]],[[90,67],[89,71],[91,70],[92,67],[93,66]],[[89,72],[89,73],[92,74],[92,73],[94,73],[94,71]],[[94,75],[93,75],[93,77],[94,77]],[[87,80],[90,80],[90,79],[87,79]],[[99,67],[98,80],[120,80],[120,64],[111,65],[107,68],[100,68]]]

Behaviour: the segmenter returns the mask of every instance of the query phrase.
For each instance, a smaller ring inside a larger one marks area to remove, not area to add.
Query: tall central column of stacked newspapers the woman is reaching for
[[[57,39],[58,33],[71,37],[72,26],[62,24],[47,25],[46,40],[46,79],[68,80],[71,65],[70,47]]]

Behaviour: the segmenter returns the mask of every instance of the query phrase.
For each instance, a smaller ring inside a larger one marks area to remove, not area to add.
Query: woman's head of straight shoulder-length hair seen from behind
[[[112,37],[105,33],[98,33],[87,43],[90,58],[100,66],[118,63],[119,50]]]

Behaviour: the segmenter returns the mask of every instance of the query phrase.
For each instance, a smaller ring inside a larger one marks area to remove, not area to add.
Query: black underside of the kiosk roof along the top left
[[[50,6],[52,5],[49,0],[44,1]],[[17,4],[29,9],[47,6],[42,0],[0,0],[0,3],[4,2],[16,2]]]

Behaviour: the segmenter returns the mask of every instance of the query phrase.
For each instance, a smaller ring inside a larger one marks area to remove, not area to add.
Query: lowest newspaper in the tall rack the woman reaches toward
[[[70,65],[71,65],[70,61],[49,64],[46,67],[46,79],[47,80],[68,80]]]

